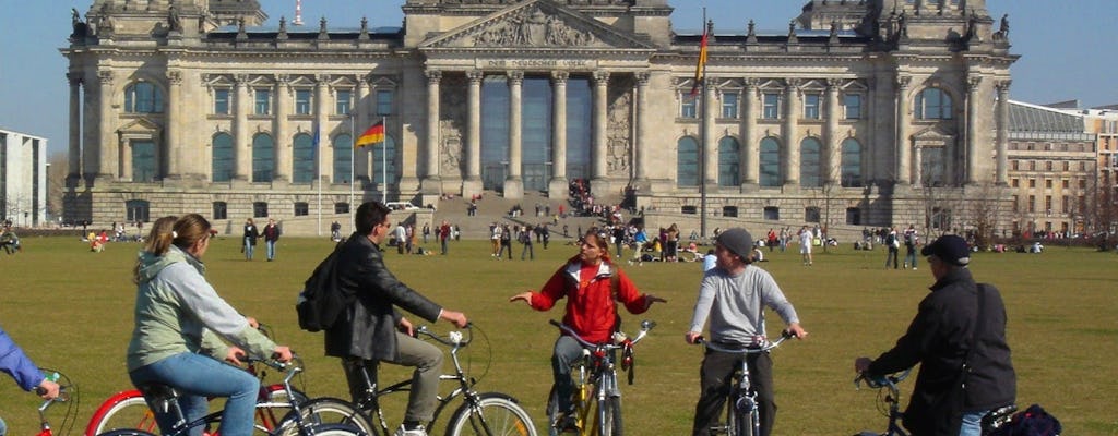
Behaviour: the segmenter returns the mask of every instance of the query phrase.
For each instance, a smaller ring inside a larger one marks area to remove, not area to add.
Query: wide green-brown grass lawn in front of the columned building
[[[434,244],[430,244],[434,246]],[[72,238],[25,239],[25,252],[0,254],[0,324],[40,366],[57,368],[77,382],[80,403],[75,432],[111,394],[130,388],[124,350],[132,328],[135,285],[133,243],[112,243],[103,253]],[[322,338],[301,331],[293,304],[302,281],[331,249],[323,240],[284,239],[276,262],[246,262],[236,239],[211,243],[205,261],[208,278],[234,307],[271,324],[278,341],[306,360],[303,389],[314,396],[344,396],[335,359],[322,356]],[[542,430],[543,403],[550,388],[549,358],[556,329],[541,313],[508,298],[538,289],[575,248],[537,244],[534,261],[500,262],[487,242],[453,243],[448,256],[399,256],[387,262],[396,275],[449,309],[462,310],[487,335],[489,347],[467,355],[481,390],[499,390],[521,400]],[[800,265],[792,251],[762,263],[796,306],[807,340],[787,342],[774,352],[779,414],[776,434],[837,435],[882,430],[877,393],[855,390],[853,360],[875,357],[908,327],[917,302],[931,284],[930,273],[885,270],[881,251],[832,249],[815,265]],[[1118,308],[1115,267],[1118,256],[1086,249],[1044,254],[980,253],[975,277],[996,284],[1006,302],[1008,340],[1017,370],[1017,403],[1040,403],[1060,418],[1067,435],[1116,435],[1118,386]],[[623,313],[635,329],[639,319],[659,327],[637,346],[636,382],[623,385],[628,434],[690,433],[702,351],[683,342],[698,281],[697,263],[645,263],[624,267],[638,288],[666,298],[643,316]],[[778,318],[773,314],[770,321]],[[771,322],[770,322],[771,323]],[[440,329],[448,324],[442,323]],[[492,356],[492,359],[490,358]],[[491,362],[491,364],[490,364]],[[489,364],[489,365],[487,365]],[[381,371],[381,381],[406,375]],[[902,385],[907,397],[911,382]],[[400,398],[400,401],[404,399]],[[38,429],[37,398],[0,379],[0,416],[11,435]],[[51,418],[60,424],[61,408]],[[398,418],[396,413],[394,418]],[[444,422],[448,416],[444,416]],[[433,434],[439,434],[436,427]],[[73,433],[73,432],[72,432]]]

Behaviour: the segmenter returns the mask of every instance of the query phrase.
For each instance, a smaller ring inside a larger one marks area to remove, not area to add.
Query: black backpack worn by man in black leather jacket
[[[306,331],[330,329],[338,316],[352,303],[352,299],[338,287],[338,253],[343,244],[339,243],[303,283],[303,291],[295,302],[299,328]]]

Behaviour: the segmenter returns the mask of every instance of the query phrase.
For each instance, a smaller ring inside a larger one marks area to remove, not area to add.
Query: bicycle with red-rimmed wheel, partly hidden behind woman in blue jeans
[[[265,324],[259,324],[257,330],[268,338],[273,337],[272,330]],[[299,389],[292,389],[294,397],[287,397],[287,391],[282,382],[264,385],[267,372],[258,370],[256,362],[256,360],[249,360],[245,370],[260,379],[260,390],[256,399],[256,427],[267,433],[280,427],[283,418],[290,413],[288,405],[291,403],[302,404],[307,400],[307,397]],[[158,432],[155,416],[139,389],[116,393],[103,401],[86,424],[85,436],[96,436],[119,428]]]

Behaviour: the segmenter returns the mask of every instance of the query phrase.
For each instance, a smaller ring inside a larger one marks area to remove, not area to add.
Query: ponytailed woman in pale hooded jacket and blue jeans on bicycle
[[[198,214],[183,215],[173,223],[170,217],[160,219],[152,225],[135,268],[138,292],[135,328],[127,350],[129,377],[138,388],[159,384],[178,389],[179,406],[188,422],[207,414],[206,397],[228,397],[221,435],[249,436],[259,380],[199,352],[239,364],[245,351],[287,361],[291,350],[249,326],[206,281],[201,258],[209,248],[210,227]],[[221,339],[234,347],[226,347]],[[153,400],[148,398],[149,405]],[[163,434],[172,432],[174,415],[155,414]],[[196,427],[191,435],[201,432]]]

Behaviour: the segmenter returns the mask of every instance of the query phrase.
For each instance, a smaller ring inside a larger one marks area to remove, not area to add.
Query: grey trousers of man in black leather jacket
[[[404,413],[404,420],[430,423],[435,418],[438,376],[443,374],[443,350],[400,332],[396,333],[396,347],[400,358],[383,361],[416,368],[411,374],[411,390],[408,393],[408,409]],[[377,380],[377,360],[342,359],[342,370],[345,371],[354,404],[366,397],[369,387],[362,369],[368,371],[369,381]]]

